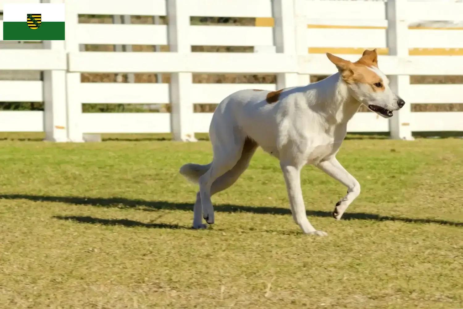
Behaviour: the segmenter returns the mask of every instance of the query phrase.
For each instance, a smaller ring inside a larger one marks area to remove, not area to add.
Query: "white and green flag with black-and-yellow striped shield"
[[[64,40],[64,3],[5,3],[3,39]]]

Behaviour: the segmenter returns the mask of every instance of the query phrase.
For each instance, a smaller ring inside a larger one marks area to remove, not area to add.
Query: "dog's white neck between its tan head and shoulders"
[[[307,104],[325,117],[327,123],[346,124],[361,105],[339,73],[309,84],[306,89]]]

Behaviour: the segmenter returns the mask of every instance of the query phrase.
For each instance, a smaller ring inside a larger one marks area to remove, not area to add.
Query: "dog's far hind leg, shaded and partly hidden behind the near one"
[[[235,183],[238,178],[243,174],[243,172],[248,168],[250,160],[257,149],[257,143],[252,139],[245,139],[243,145],[243,151],[241,152],[241,157],[235,166],[231,170],[228,170],[217,178],[211,186],[211,196],[223,191],[233,183]],[[196,194],[196,202],[194,203],[194,215],[193,215],[193,228],[206,228],[207,226],[202,223],[202,208],[201,208],[201,196],[200,192]]]

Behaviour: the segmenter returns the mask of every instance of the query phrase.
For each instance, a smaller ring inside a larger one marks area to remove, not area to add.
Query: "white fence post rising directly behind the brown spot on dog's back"
[[[294,0],[272,0],[275,25],[273,38],[276,52],[296,55],[294,36]],[[297,73],[279,73],[276,75],[276,88],[299,86]]]

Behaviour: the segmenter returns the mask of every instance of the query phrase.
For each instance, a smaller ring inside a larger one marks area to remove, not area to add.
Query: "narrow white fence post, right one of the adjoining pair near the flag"
[[[77,38],[77,27],[79,15],[77,12],[78,0],[66,1],[66,52],[79,52]],[[68,56],[69,63],[69,56]],[[68,109],[68,139],[70,142],[83,142],[82,132],[82,102],[80,100],[81,73],[66,73],[66,93]]]

